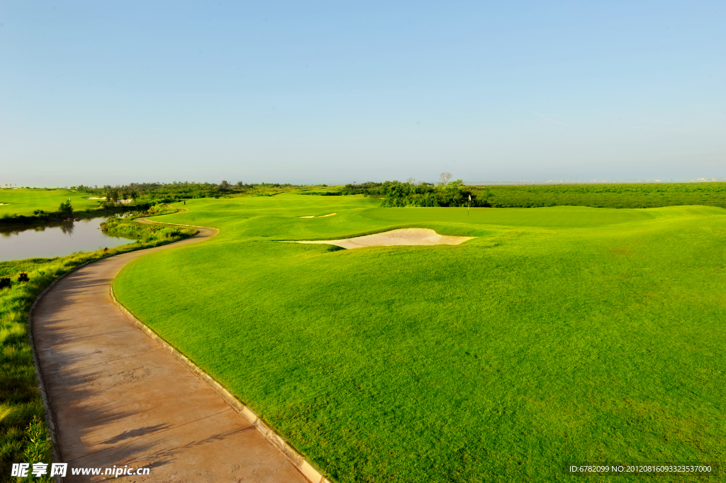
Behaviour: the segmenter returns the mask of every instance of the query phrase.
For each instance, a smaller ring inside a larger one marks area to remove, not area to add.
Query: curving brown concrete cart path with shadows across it
[[[285,455],[207,383],[131,323],[109,288],[129,261],[216,235],[94,262],[60,280],[33,312],[33,336],[70,468],[150,467],[126,482],[307,483]]]

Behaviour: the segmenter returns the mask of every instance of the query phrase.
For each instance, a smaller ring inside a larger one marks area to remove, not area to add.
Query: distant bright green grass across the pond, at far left
[[[97,208],[100,205],[101,200],[86,200],[84,198],[86,196],[89,195],[63,189],[4,188],[0,189],[0,203],[3,203],[0,206],[0,216],[13,214],[30,216],[35,210],[57,211],[60,203],[68,198],[75,211]]]

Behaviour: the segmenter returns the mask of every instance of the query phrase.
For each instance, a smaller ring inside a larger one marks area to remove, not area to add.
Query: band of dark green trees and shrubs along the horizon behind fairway
[[[319,184],[317,187],[325,187]],[[382,198],[381,206],[483,206],[494,208],[538,206],[592,206],[595,208],[655,208],[674,205],[707,205],[726,208],[726,183],[622,183],[469,186],[442,173],[436,184],[416,182],[363,182],[340,189],[316,192],[310,186],[280,183],[131,183],[111,187],[73,187],[89,195],[105,196],[108,204],[141,199],[150,205],[189,198],[232,195],[274,195],[298,191],[306,195],[364,195]]]

